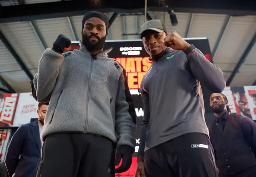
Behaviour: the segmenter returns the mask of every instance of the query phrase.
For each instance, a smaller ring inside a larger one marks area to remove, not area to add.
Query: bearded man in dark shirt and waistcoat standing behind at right
[[[215,121],[209,127],[219,177],[256,177],[256,123],[230,113],[222,93],[210,96]]]

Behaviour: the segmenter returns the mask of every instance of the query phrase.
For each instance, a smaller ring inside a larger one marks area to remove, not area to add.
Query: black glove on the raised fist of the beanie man
[[[56,41],[53,43],[52,49],[55,52],[62,54],[65,48],[68,48],[71,44],[71,40],[63,34],[60,34]]]

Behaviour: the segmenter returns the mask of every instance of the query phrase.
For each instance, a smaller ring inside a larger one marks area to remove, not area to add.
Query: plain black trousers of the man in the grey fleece
[[[46,137],[37,177],[114,177],[114,144],[107,138],[78,133]]]

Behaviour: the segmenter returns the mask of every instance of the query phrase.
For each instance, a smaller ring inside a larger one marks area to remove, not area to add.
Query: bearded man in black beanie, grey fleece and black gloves
[[[124,68],[103,51],[108,26],[87,12],[80,49],[63,53],[71,41],[59,35],[40,59],[34,97],[50,104],[38,177],[114,177],[132,163],[136,114]]]

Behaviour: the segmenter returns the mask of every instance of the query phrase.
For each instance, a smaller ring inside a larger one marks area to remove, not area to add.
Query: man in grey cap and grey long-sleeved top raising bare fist
[[[220,93],[223,72],[176,32],[168,34],[160,20],[141,29],[152,66],[140,86],[144,117],[136,177],[217,177],[200,83]]]

